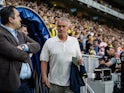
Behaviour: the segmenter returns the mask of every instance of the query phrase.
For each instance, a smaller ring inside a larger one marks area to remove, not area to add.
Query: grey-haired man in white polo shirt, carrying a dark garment
[[[78,63],[82,64],[82,55],[78,40],[67,35],[69,27],[68,19],[59,19],[57,36],[48,39],[41,51],[42,83],[50,88],[50,93],[74,93],[69,88],[72,57],[76,57]],[[50,69],[47,77],[48,62]]]

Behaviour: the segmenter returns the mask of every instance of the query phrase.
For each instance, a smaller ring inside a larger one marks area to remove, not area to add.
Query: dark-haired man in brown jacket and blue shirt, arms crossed
[[[23,91],[22,84],[32,76],[29,54],[38,52],[40,45],[16,31],[21,26],[21,18],[14,6],[4,7],[0,16],[0,93]]]

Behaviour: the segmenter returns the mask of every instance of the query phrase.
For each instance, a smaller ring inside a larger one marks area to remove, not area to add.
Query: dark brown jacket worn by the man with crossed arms
[[[14,36],[5,28],[0,26],[0,91],[14,91],[20,86],[20,70],[22,62],[28,62],[32,68],[29,53],[36,53],[40,50],[40,45],[18,32],[17,42]],[[17,48],[20,44],[29,42],[29,53]]]

